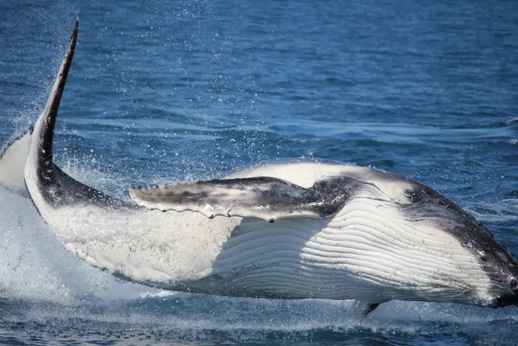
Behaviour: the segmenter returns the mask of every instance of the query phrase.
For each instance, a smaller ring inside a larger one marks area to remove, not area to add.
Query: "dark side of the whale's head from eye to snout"
[[[473,285],[462,302],[494,308],[518,305],[518,262],[514,254],[481,222],[439,192],[411,179],[405,178],[405,184],[402,197],[406,201],[400,208],[405,219],[433,227],[452,239],[445,245],[451,247],[452,256],[444,259],[453,262],[459,274],[468,274],[465,283]],[[458,246],[461,248],[456,251]],[[476,265],[479,270],[473,270]],[[451,279],[455,282],[454,275]]]

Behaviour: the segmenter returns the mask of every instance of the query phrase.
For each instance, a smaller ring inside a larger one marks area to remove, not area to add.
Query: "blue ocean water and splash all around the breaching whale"
[[[0,146],[45,105],[79,17],[55,160],[128,198],[276,158],[439,190],[518,251],[518,2],[0,3]],[[0,189],[0,343],[515,345],[518,308],[237,299],[120,281]]]

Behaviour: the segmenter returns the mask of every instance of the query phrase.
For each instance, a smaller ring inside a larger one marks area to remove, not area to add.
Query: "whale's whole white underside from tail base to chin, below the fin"
[[[492,283],[470,253],[431,226],[419,225],[425,234],[418,235],[415,225],[394,213],[379,201],[358,199],[331,221],[209,220],[199,213],[91,205],[44,211],[44,218],[65,247],[89,264],[158,288],[235,297],[489,304]]]

